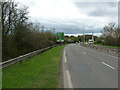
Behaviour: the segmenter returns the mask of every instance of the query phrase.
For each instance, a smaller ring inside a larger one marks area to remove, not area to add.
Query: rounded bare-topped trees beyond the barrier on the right
[[[102,36],[99,37],[96,43],[109,46],[120,46],[120,28],[114,22],[104,26]]]

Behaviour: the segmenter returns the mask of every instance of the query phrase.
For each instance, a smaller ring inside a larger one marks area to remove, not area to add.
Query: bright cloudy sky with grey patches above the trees
[[[65,34],[95,33],[109,22],[118,21],[118,1],[19,0],[29,7],[29,17],[46,29],[55,28]]]

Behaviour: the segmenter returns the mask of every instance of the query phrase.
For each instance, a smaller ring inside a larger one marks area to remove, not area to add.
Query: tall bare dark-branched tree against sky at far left
[[[17,4],[9,1],[9,2],[1,2],[2,8],[2,34],[3,39],[6,38],[7,34],[12,34],[14,32],[14,28],[18,24],[23,24],[27,18],[27,7],[23,9],[18,9]]]

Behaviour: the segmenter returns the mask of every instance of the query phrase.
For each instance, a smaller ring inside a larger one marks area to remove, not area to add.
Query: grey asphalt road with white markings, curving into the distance
[[[63,54],[64,88],[118,88],[118,58],[69,44]]]

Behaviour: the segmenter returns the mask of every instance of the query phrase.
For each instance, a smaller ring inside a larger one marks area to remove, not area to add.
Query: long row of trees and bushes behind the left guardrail
[[[31,51],[56,44],[55,29],[33,23],[28,7],[18,7],[13,1],[0,2],[2,27],[2,60],[8,60]]]

